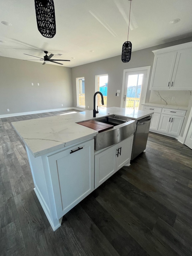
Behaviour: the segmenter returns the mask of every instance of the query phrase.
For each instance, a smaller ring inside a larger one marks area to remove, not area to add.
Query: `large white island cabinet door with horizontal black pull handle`
[[[59,219],[94,190],[94,140],[50,155],[48,162]]]

